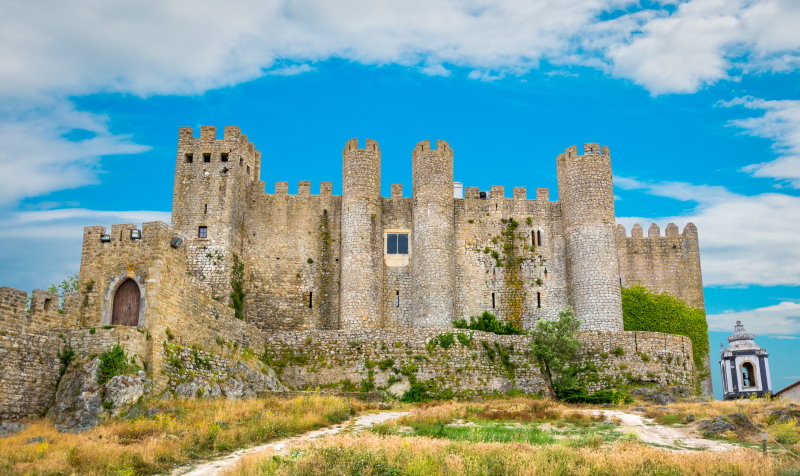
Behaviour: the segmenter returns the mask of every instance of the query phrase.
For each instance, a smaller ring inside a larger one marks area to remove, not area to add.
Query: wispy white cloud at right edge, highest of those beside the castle
[[[729,124],[747,134],[773,141],[778,158],[748,165],[743,170],[756,177],[786,181],[800,188],[800,101],[766,101],[752,97],[721,101],[723,107],[743,106],[763,111],[763,115],[736,119]]]

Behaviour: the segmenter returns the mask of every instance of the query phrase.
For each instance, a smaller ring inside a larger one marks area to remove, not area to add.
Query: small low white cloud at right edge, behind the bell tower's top
[[[756,335],[800,334],[800,303],[782,302],[747,311],[728,311],[708,315],[708,330],[732,332],[736,321]],[[793,336],[775,336],[796,339]]]

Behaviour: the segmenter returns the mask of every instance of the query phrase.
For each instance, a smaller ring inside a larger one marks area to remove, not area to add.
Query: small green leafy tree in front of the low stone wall
[[[574,361],[581,347],[579,327],[575,311],[568,307],[559,313],[557,321],[539,320],[531,331],[531,350],[557,398],[577,386],[579,369]]]

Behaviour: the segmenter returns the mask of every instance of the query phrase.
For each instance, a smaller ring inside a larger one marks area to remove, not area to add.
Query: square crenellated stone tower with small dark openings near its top
[[[178,133],[172,225],[186,239],[192,281],[228,302],[233,253],[242,255],[251,185],[258,181],[261,153],[238,127],[191,127]]]

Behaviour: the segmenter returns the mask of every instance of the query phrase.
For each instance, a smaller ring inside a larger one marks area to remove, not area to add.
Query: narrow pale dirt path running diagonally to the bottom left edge
[[[325,438],[331,435],[335,435],[337,433],[341,433],[343,431],[360,431],[365,428],[369,428],[373,425],[377,425],[379,423],[384,423],[389,420],[400,418],[401,416],[406,414],[408,414],[408,412],[367,413],[366,415],[361,415],[359,417],[353,418],[352,420],[340,423],[338,425],[327,426],[325,428],[309,431],[308,433],[303,433],[302,435],[297,435],[292,438],[277,440],[264,445],[254,446],[252,448],[239,450],[227,456],[223,456],[219,459],[215,459],[205,463],[199,463],[190,466],[182,466],[180,468],[175,469],[170,474],[172,476],[216,475],[221,473],[223,470],[232,467],[234,464],[238,463],[244,456],[247,455],[260,453],[262,451],[267,451],[267,450],[274,451],[275,453],[283,453],[286,451],[287,447],[292,443],[299,443],[303,441]]]

